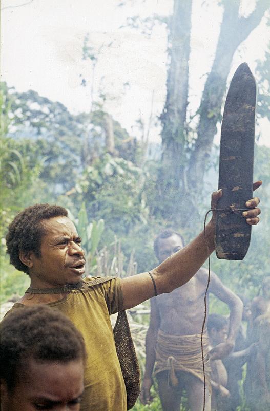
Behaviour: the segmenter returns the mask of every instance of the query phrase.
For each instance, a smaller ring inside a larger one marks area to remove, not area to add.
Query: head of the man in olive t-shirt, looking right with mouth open
[[[7,253],[17,270],[30,275],[32,287],[59,287],[80,282],[85,273],[80,242],[66,209],[35,204],[20,212],[9,226]]]

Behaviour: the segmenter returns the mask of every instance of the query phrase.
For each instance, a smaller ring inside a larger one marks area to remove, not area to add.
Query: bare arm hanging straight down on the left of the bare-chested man
[[[153,385],[153,369],[156,361],[157,333],[160,325],[160,316],[156,299],[151,300],[150,324],[146,334],[146,370],[141,384],[140,400],[143,404],[151,401],[150,388]]]

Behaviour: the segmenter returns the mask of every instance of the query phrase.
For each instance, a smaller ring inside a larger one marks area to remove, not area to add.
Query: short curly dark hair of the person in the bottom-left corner
[[[14,309],[0,329],[0,377],[10,392],[16,386],[20,368],[27,367],[29,359],[62,363],[86,360],[80,332],[68,317],[46,305]]]

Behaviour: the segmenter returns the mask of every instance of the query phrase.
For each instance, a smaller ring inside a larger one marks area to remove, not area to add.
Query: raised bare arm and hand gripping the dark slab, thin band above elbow
[[[261,182],[255,183],[256,188]],[[221,190],[212,194],[211,208],[216,208],[218,199],[221,197]],[[244,217],[250,225],[259,222],[258,215],[260,209],[257,207],[260,200],[255,197],[246,202],[246,207],[251,210],[245,212]],[[189,245],[167,258],[157,268],[151,271],[156,284],[158,294],[171,292],[175,288],[188,282],[191,277],[203,265],[206,258],[214,251],[215,235],[215,213],[211,221],[205,228],[204,234],[201,232]],[[152,279],[149,273],[137,274],[132,277],[122,279],[123,308],[134,307],[141,302],[148,300],[155,295]]]

